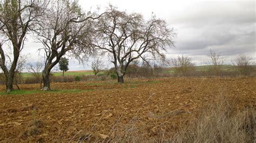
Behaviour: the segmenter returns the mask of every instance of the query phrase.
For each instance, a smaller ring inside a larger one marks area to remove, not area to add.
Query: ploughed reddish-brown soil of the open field
[[[35,90],[39,85],[20,87]],[[222,95],[238,109],[256,109],[256,78],[53,83],[52,89],[84,91],[0,95],[0,141],[157,138],[160,132],[168,136],[193,120],[204,104]]]

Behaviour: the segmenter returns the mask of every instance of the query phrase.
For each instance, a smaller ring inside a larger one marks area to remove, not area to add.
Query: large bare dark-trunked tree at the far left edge
[[[0,1],[0,35],[1,40],[12,45],[12,61],[10,68],[6,66],[4,45],[0,44],[0,66],[5,75],[6,91],[13,90],[15,70],[20,52],[24,47],[26,34],[33,30],[39,17],[44,13],[44,1],[36,0],[4,0]],[[10,55],[9,55],[10,57]]]

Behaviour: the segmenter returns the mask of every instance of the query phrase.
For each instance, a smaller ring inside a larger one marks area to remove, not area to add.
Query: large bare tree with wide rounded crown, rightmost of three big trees
[[[95,30],[93,47],[109,55],[118,76],[124,82],[129,64],[136,59],[150,57],[165,58],[166,46],[173,46],[175,37],[165,20],[152,16],[145,20],[138,13],[119,11],[110,5],[106,14],[99,18]]]

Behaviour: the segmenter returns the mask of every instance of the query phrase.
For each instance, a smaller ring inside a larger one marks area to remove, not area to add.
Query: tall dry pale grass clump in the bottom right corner
[[[171,142],[255,142],[255,109],[235,111],[225,97],[207,104],[196,120]]]

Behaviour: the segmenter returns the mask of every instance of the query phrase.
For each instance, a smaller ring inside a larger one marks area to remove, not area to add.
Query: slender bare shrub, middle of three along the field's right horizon
[[[223,65],[225,59],[220,56],[220,54],[212,51],[210,49],[210,55],[208,55],[211,59],[211,67],[210,70],[214,71],[216,75],[220,74],[221,66]]]

